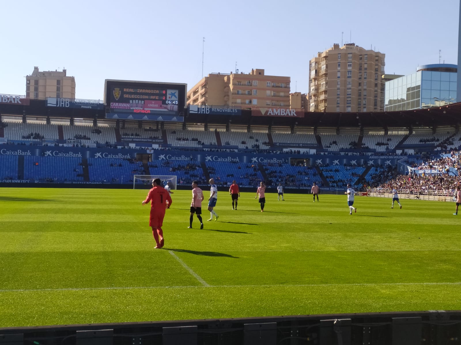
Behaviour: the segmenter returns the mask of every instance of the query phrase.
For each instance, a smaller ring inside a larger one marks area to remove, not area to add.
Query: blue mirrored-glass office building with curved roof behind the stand
[[[456,102],[457,65],[432,64],[384,84],[384,111],[426,109]]]

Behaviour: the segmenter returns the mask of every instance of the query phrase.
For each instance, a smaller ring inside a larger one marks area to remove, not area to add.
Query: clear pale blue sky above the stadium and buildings
[[[18,0],[1,15],[0,93],[9,94],[25,94],[34,66],[65,67],[77,98],[102,99],[105,79],[190,88],[202,77],[202,37],[204,75],[237,62],[240,72],[290,76],[291,92],[307,92],[309,59],[341,44],[341,32],[386,54],[388,74],[438,63],[439,49],[442,63],[457,63],[458,0]]]

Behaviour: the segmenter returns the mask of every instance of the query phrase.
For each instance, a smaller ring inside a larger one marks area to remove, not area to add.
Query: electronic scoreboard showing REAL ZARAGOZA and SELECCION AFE
[[[106,79],[106,118],[184,121],[187,84]]]

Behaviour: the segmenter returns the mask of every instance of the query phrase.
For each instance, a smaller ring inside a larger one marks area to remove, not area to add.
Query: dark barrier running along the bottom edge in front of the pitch
[[[1,345],[455,345],[461,311],[0,328]]]

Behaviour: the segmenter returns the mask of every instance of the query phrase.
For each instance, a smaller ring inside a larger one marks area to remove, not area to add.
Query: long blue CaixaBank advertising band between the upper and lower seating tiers
[[[290,164],[290,158],[303,158],[310,160],[310,165],[315,167],[334,167],[339,165],[354,166],[392,166],[397,165],[395,158],[370,158],[358,155],[296,155],[296,154],[258,154],[240,152],[207,152],[207,151],[180,151],[180,150],[147,150],[144,149],[107,149],[107,148],[82,148],[62,146],[23,146],[2,144],[0,146],[0,159],[4,155],[44,156],[44,157],[77,157],[95,159],[130,159],[136,153],[151,153],[153,161],[184,161],[204,162],[207,165],[213,162],[233,162],[249,165],[264,164],[277,166]],[[385,156],[383,156],[385,157]]]

